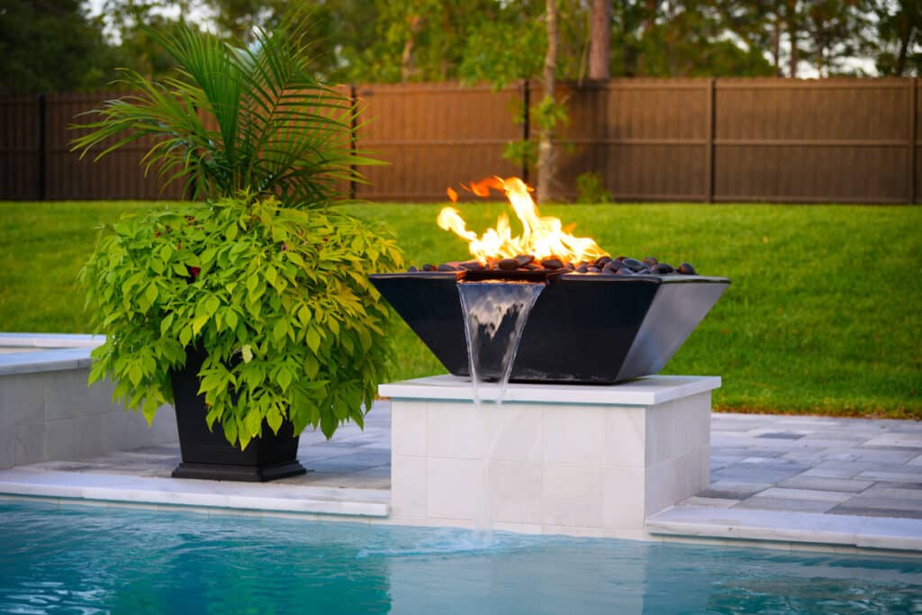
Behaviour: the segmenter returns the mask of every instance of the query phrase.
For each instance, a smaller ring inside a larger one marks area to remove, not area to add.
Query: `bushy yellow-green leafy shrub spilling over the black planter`
[[[100,332],[90,383],[107,377],[153,420],[171,372],[200,347],[209,428],[245,448],[263,419],[326,437],[362,424],[384,377],[389,308],[369,271],[402,266],[394,238],[335,211],[228,198],[124,217],[80,272]]]

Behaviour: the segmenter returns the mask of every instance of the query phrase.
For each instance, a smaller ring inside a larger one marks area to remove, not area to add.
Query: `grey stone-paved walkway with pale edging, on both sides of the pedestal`
[[[709,488],[648,518],[651,533],[922,551],[922,421],[713,414],[711,430]],[[0,493],[119,500],[128,490],[132,502],[383,517],[389,403],[375,404],[364,432],[303,434],[299,458],[313,471],[271,485],[171,480],[177,444],[2,470]]]

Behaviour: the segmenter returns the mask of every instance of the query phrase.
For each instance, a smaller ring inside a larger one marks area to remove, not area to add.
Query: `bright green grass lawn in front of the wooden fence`
[[[0,330],[89,332],[75,282],[94,227],[155,203],[0,203]],[[408,263],[459,260],[442,206],[352,206],[386,222]],[[460,207],[482,231],[506,206]],[[715,406],[922,419],[922,208],[543,207],[613,255],[689,261],[733,280],[665,373],[721,375]],[[443,373],[402,322],[395,379]]]

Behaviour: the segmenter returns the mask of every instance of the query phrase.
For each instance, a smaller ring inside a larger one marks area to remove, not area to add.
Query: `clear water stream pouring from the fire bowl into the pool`
[[[544,290],[535,282],[459,282],[461,309],[465,314],[465,337],[470,381],[474,394],[474,411],[480,422],[483,448],[481,489],[477,502],[477,529],[489,533],[492,528],[490,466],[496,444],[514,418],[512,413],[485,411],[481,392],[484,383],[496,382],[493,402],[502,405],[509,377],[513,371],[528,314]]]

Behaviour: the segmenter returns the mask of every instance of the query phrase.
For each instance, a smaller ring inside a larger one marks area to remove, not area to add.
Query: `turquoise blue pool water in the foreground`
[[[9,501],[0,613],[922,613],[922,560]]]

